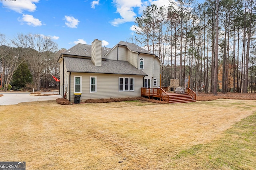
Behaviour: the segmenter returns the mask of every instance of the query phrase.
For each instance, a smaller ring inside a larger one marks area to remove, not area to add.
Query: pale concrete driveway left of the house
[[[52,94],[53,92],[49,92],[48,94]],[[37,102],[37,101],[46,101],[46,100],[56,100],[58,98],[62,98],[58,92],[54,92],[54,94],[58,95],[51,95],[51,96],[31,96],[30,93],[23,93],[23,92],[7,92],[7,93],[0,93],[4,96],[0,97],[0,106],[3,105],[15,105],[22,102]],[[47,93],[41,93],[47,94]]]

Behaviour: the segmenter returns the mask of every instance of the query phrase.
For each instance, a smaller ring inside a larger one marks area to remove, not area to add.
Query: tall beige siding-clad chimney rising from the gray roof
[[[96,66],[101,66],[101,41],[95,39],[92,42],[92,63]]]

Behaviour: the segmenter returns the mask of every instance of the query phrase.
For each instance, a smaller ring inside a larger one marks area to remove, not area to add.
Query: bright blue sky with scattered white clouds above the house
[[[59,49],[76,43],[114,47],[130,42],[132,26],[146,6],[168,6],[168,0],[16,0],[0,1],[0,33],[13,39],[17,34],[49,36]]]

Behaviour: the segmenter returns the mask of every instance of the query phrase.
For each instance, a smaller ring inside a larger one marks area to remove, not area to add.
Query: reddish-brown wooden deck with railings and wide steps
[[[186,88],[184,94],[166,92],[167,88],[141,88],[141,96],[158,98],[169,103],[188,103],[196,102],[196,93],[190,88]]]

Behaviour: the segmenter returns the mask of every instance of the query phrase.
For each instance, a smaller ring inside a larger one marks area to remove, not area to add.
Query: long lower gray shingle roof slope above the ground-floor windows
[[[105,74],[129,74],[147,76],[142,70],[138,70],[128,61],[106,60],[102,66],[95,66],[90,59],[64,57],[68,72],[90,72]]]

